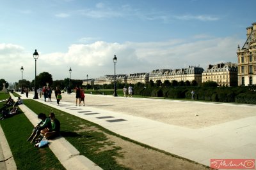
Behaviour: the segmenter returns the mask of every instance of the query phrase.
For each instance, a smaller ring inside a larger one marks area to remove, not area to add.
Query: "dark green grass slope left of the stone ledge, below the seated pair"
[[[8,97],[9,94],[0,93],[0,99]],[[0,103],[0,108],[4,104]],[[36,148],[26,141],[33,125],[23,113],[0,120],[0,125],[18,169],[65,169],[48,147]]]

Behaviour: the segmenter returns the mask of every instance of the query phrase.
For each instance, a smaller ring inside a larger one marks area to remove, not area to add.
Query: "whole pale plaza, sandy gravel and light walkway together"
[[[33,94],[29,94],[29,98]],[[26,99],[22,96],[22,99]],[[256,105],[75,94],[45,102],[140,143],[210,166],[210,159],[256,158]]]

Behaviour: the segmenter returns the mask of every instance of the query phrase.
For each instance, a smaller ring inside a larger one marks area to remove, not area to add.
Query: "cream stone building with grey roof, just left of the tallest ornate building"
[[[227,62],[216,65],[209,65],[203,71],[202,82],[215,81],[220,86],[237,86],[237,64]]]

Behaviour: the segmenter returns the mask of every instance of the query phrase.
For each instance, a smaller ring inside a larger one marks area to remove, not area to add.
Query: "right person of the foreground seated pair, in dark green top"
[[[52,139],[56,136],[60,136],[60,121],[55,118],[55,114],[52,112],[50,113],[49,117],[51,118],[51,128],[45,128],[41,131],[41,135],[44,136],[46,139]]]

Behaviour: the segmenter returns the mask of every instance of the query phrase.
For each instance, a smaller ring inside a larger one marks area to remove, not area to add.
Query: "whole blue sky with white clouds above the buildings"
[[[86,80],[220,62],[256,22],[255,0],[0,0],[0,78]],[[23,73],[20,67],[24,68]],[[69,69],[72,73],[69,73]]]

